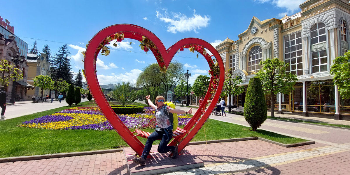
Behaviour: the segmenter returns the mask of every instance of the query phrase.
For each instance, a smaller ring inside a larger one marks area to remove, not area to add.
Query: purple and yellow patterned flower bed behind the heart
[[[154,109],[144,107],[142,113],[137,114],[117,114],[119,119],[129,129],[135,128],[155,128]],[[186,125],[191,116],[178,114],[179,126]],[[98,107],[73,107],[45,115],[30,121],[22,122],[20,127],[42,128],[42,129],[94,129],[113,130],[112,125],[106,120]]]

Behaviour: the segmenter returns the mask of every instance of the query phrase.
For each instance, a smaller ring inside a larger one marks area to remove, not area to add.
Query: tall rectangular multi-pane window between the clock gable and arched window
[[[289,63],[286,73],[303,75],[301,31],[284,37],[285,63]]]

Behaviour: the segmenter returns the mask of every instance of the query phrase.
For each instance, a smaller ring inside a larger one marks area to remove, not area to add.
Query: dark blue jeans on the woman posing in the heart
[[[149,137],[147,138],[144,151],[142,152],[141,157],[146,159],[147,155],[149,155],[149,151],[151,151],[152,144],[155,140],[161,139],[160,143],[158,145],[158,152],[159,153],[166,153],[169,151],[174,151],[175,146],[167,146],[170,140],[172,139],[173,131],[170,131],[168,134],[166,132],[157,132],[154,131]]]

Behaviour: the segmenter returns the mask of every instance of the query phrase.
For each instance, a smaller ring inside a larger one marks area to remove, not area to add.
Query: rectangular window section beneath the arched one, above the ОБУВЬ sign
[[[327,71],[327,51],[316,51],[311,53],[312,72]]]

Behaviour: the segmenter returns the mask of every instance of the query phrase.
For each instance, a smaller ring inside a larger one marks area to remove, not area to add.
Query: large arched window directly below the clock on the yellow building
[[[260,46],[254,46],[248,54],[248,70],[258,73],[262,68],[259,66],[260,61],[262,61],[262,49]]]

